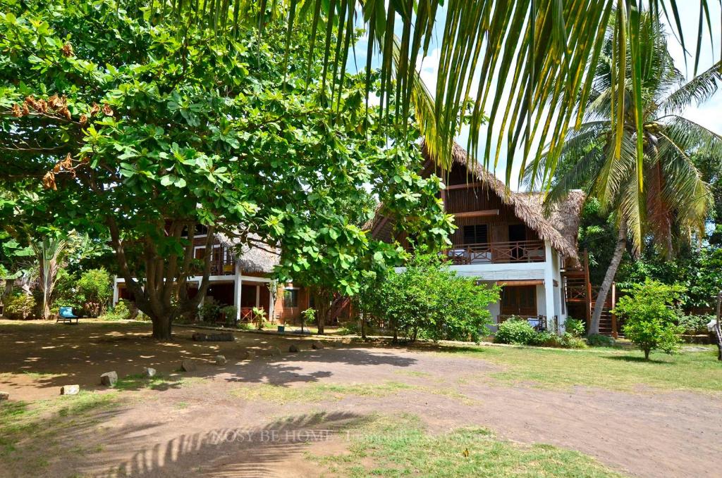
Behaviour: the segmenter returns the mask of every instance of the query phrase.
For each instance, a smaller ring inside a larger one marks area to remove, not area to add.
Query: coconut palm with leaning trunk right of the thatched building
[[[617,221],[618,237],[612,261],[596,297],[590,334],[599,332],[599,319],[627,242],[640,252],[645,239],[662,253],[672,255],[677,244],[703,234],[710,191],[690,159],[702,153],[722,161],[722,137],[692,120],[684,110],[714,94],[722,81],[722,63],[691,81],[672,61],[664,28],[653,15],[640,17],[638,55],[641,97],[632,88],[637,66],[627,61],[621,104],[615,104],[618,81],[614,78],[614,27],[610,27],[594,71],[588,98],[581,98],[578,130],[562,143],[560,171],[552,182],[547,204],[563,198],[567,191],[582,188],[599,199],[603,210]],[[627,60],[635,48],[627,43]],[[623,114],[613,112],[619,108]],[[643,128],[638,133],[635,116],[641,111]],[[621,120],[621,122],[619,122]],[[641,141],[643,154],[637,145]],[[525,180],[534,185],[552,168],[553,152],[541,156],[540,169],[527,171]]]

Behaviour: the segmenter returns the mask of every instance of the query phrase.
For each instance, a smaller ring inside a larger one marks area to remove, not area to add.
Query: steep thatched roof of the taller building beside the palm
[[[425,144],[422,152],[428,157]],[[513,208],[514,214],[530,229],[539,234],[539,238],[549,243],[564,257],[578,261],[577,234],[579,229],[579,213],[584,202],[584,193],[579,190],[570,191],[565,200],[552,207],[549,217],[544,216],[544,195],[541,192],[512,192],[494,174],[481,164],[471,164],[467,160],[466,150],[457,143],[453,145],[453,159],[461,164],[477,180],[494,192],[505,205]],[[375,236],[387,236],[393,227],[391,221],[384,221],[381,214],[383,205],[378,205],[375,217],[364,225],[364,229],[375,231]],[[381,222],[383,221],[383,224]],[[380,227],[378,227],[380,226]]]

